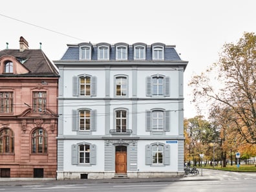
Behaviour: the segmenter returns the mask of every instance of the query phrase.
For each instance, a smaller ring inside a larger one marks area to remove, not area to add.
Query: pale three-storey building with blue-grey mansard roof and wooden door
[[[59,69],[57,179],[184,174],[187,61],[163,43],[67,45]]]

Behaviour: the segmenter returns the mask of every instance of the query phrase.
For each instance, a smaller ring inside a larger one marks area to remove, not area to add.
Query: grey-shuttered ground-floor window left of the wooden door
[[[83,142],[71,147],[72,165],[96,165],[96,145]]]

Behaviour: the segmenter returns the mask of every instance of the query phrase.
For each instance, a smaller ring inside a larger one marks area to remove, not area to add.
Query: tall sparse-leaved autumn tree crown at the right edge
[[[229,121],[248,144],[256,144],[256,36],[245,32],[237,43],[226,43],[206,72],[189,83],[198,108],[203,101],[233,112]],[[205,102],[205,104],[206,104]]]

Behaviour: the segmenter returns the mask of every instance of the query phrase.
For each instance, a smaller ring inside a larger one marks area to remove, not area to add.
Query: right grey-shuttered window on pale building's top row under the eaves
[[[169,77],[160,75],[147,77],[147,96],[169,96],[169,81]]]

